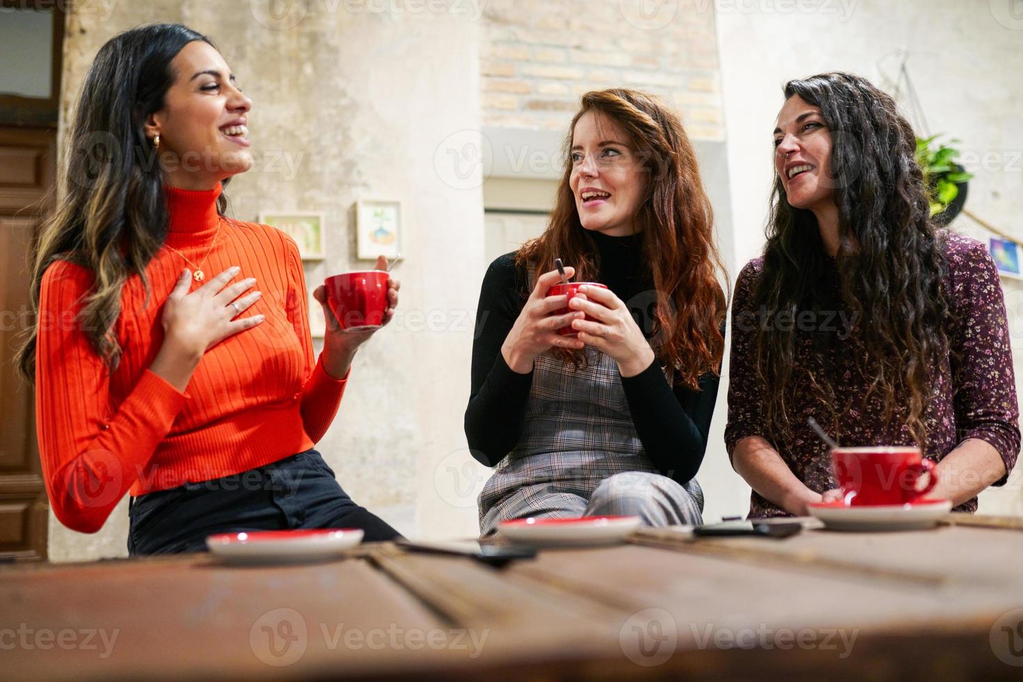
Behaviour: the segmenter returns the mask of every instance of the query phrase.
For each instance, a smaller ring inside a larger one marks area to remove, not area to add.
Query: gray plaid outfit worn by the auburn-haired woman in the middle
[[[583,369],[550,352],[533,363],[522,436],[479,497],[482,535],[513,518],[589,515],[598,487],[594,506],[612,510],[598,513],[627,510],[659,526],[700,522],[699,484],[683,487],[656,472],[632,424],[618,364],[585,350]],[[630,471],[646,475],[612,480]]]

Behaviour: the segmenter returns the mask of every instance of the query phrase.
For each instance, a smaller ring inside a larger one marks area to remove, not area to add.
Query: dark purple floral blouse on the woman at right
[[[955,320],[948,330],[953,351],[959,361],[949,354],[936,367],[934,396],[924,415],[927,428],[925,455],[940,461],[960,443],[975,438],[991,444],[1010,471],[1016,463],[1020,449],[1019,407],[1016,401],[1016,383],[1010,349],[1009,325],[1002,295],[998,272],[987,249],[979,241],[947,233],[945,257],[948,264],[945,290]],[[764,428],[761,408],[768,390],[758,378],[755,367],[757,334],[762,327],[753,310],[752,297],[763,272],[761,259],[750,261],[739,275],[732,305],[731,368],[728,387],[728,424],[724,431],[729,459],[736,444],[749,436],[768,438]],[[837,271],[834,293],[838,294]],[[841,297],[836,299],[841,301]],[[839,304],[836,308],[842,308]],[[837,420],[829,405],[800,382],[787,388],[792,392],[789,401],[792,438],[785,443],[771,445],[792,471],[808,488],[822,493],[837,488],[831,457],[820,440],[806,423],[814,417],[825,428],[838,423],[839,444],[846,447],[868,445],[906,445],[913,439],[904,425],[885,430],[881,416],[880,400],[872,396],[864,405],[866,384],[854,380],[854,359],[865,351],[854,333],[842,333],[842,311],[837,311],[829,332],[828,351],[822,361],[835,368],[832,375],[841,376],[834,385],[834,394],[847,402],[841,405]],[[761,316],[762,317],[762,316]],[[825,320],[820,320],[822,325]],[[811,355],[811,332],[797,326],[796,358],[807,361]],[[859,354],[857,356],[857,354]],[[958,379],[953,378],[957,377]],[[769,439],[768,439],[769,440]],[[997,482],[1005,485],[1008,476]],[[977,498],[961,504],[957,511],[976,511]],[[781,507],[761,497],[756,491],[751,495],[750,517],[789,515]]]

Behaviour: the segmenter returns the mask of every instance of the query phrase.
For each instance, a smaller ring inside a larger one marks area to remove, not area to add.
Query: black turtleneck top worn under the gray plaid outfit
[[[589,236],[598,254],[597,281],[625,302],[650,338],[656,295],[641,267],[641,235],[609,237],[590,232]],[[533,373],[513,371],[504,362],[501,346],[529,293],[526,270],[515,265],[515,253],[490,264],[476,313],[472,393],[465,410],[470,450],[488,466],[495,466],[511,451],[522,431]],[[699,391],[683,385],[673,389],[657,360],[639,374],[622,377],[632,423],[647,456],[662,474],[683,484],[697,474],[707,448],[717,387],[718,377],[708,373],[701,378]]]

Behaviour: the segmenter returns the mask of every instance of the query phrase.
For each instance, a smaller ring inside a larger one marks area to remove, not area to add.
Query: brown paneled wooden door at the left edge
[[[46,558],[35,393],[13,364],[33,317],[29,243],[52,206],[56,134],[0,127],[0,559]]]

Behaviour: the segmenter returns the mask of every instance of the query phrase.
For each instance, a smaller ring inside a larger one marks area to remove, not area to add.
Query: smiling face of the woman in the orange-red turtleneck
[[[171,69],[174,85],[164,108],[146,120],[146,136],[160,135],[165,181],[185,189],[216,186],[253,164],[249,151],[252,100],[234,85],[227,62],[212,45],[185,45]]]

